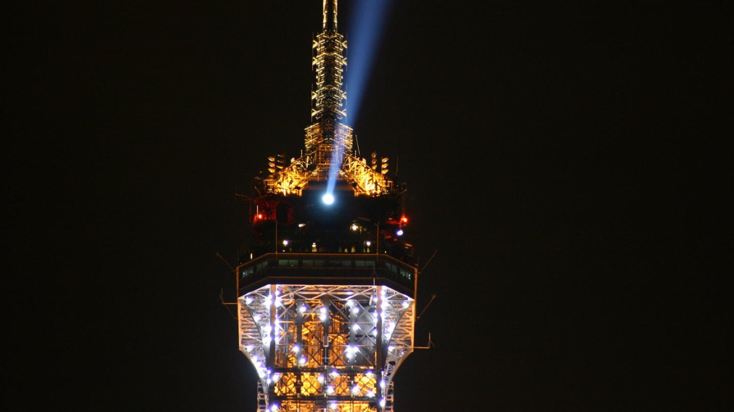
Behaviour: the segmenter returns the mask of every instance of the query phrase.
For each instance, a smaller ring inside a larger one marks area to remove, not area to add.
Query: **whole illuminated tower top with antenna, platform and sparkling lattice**
[[[236,268],[239,345],[259,375],[258,412],[390,412],[418,286],[405,188],[388,158],[353,147],[337,0],[323,8],[304,150],[270,156],[255,179],[254,245]]]

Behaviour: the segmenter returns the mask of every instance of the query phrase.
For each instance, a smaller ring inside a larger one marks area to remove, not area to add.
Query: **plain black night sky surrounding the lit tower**
[[[353,126],[399,158],[421,262],[437,249],[416,332],[436,347],[401,367],[398,412],[732,406],[730,21],[586,3],[393,1]],[[4,16],[7,410],[255,410],[215,254],[247,240],[236,191],[302,148],[320,7]]]

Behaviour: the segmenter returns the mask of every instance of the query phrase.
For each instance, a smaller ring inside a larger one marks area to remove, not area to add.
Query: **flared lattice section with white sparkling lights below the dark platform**
[[[258,412],[392,411],[413,351],[412,298],[385,286],[269,284],[238,301]]]

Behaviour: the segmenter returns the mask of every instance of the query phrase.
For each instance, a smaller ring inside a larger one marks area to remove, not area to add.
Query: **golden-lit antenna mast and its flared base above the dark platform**
[[[360,158],[353,148],[354,130],[341,122],[346,117],[342,90],[346,40],[336,31],[336,12],[336,1],[324,1],[323,31],[313,40],[316,90],[311,92],[311,117],[315,121],[305,129],[305,152],[288,164],[284,156],[268,158],[264,184],[269,193],[300,196],[309,182],[327,180],[330,171],[352,184],[355,196],[379,196],[393,189],[385,176],[388,158],[378,163],[374,152],[370,161]]]

